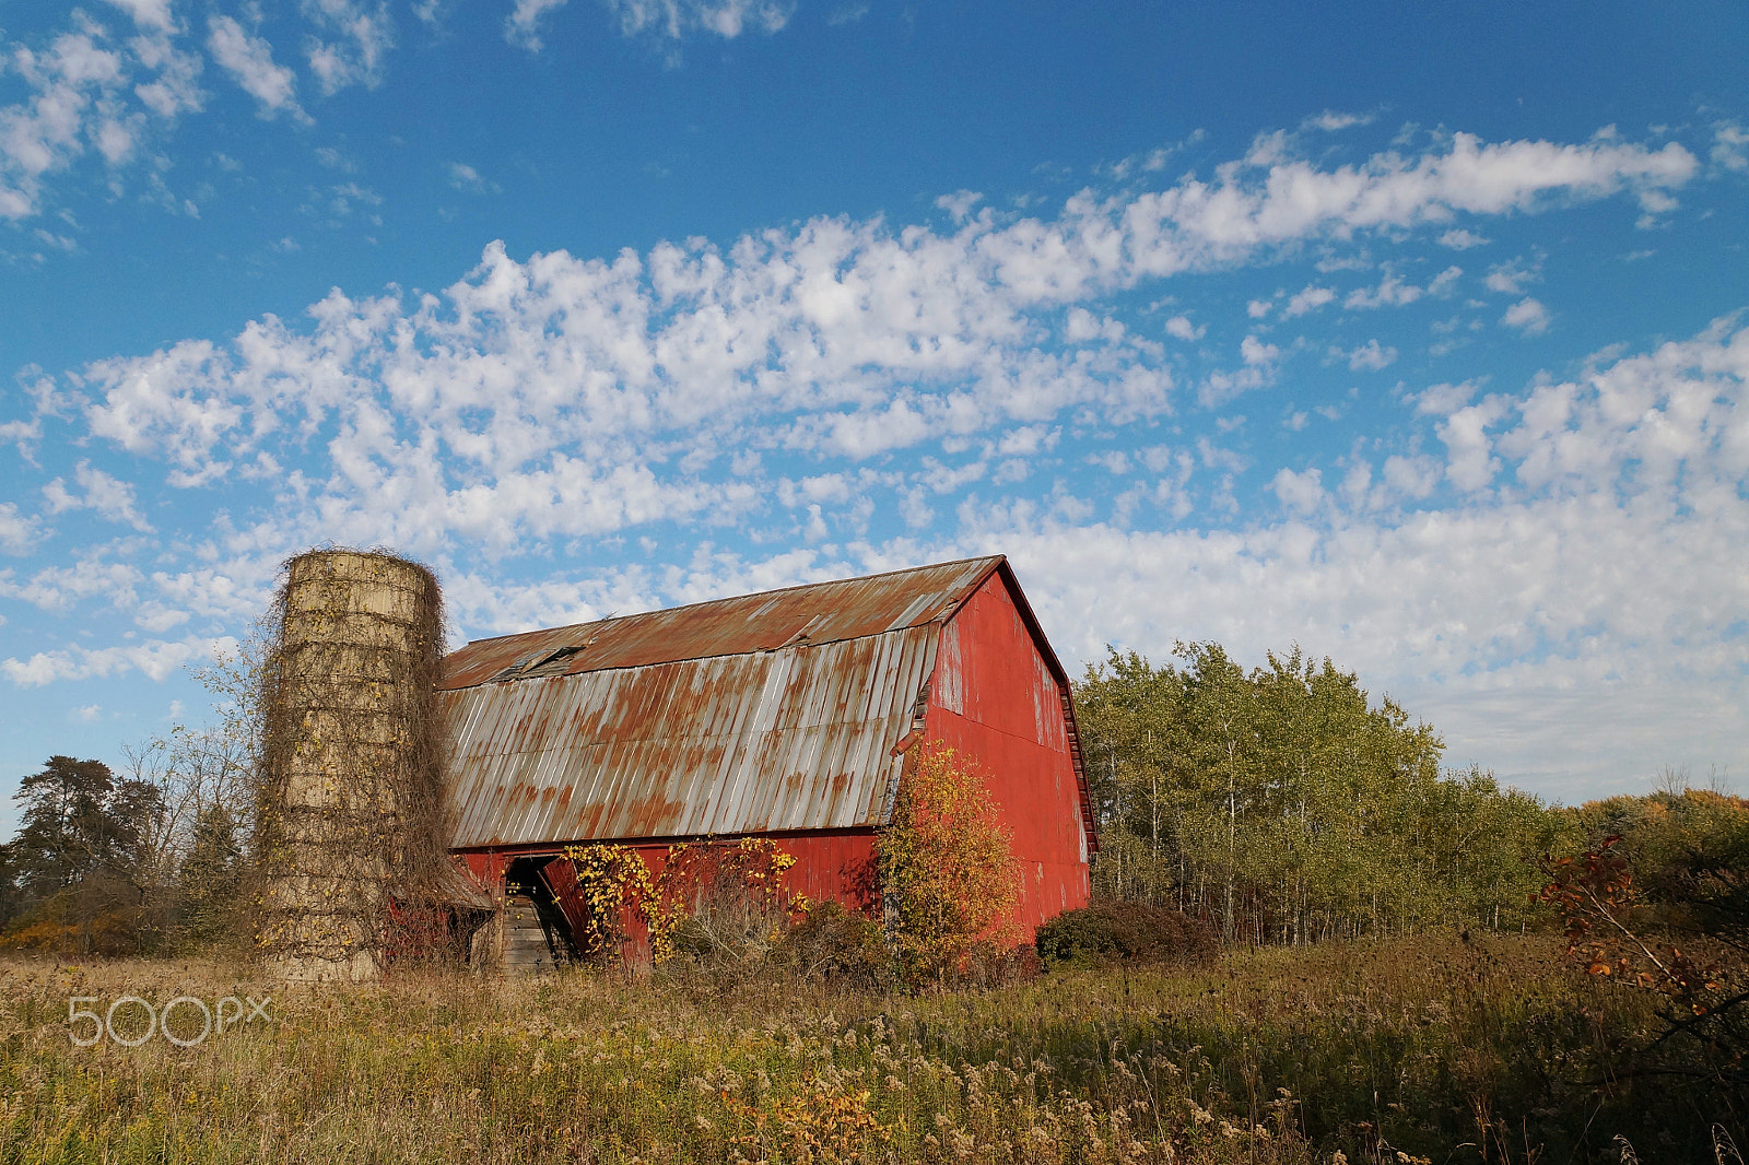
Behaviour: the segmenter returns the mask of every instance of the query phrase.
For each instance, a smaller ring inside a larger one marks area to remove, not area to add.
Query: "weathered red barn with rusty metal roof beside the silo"
[[[1098,848],[1069,677],[1002,556],[476,640],[444,661],[451,848],[563,959],[567,845],[771,838],[789,889],[873,911],[906,749],[944,740],[1013,827],[1030,936]]]

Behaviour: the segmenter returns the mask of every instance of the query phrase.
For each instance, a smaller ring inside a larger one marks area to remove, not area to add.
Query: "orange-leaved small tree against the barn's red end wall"
[[[976,764],[939,740],[911,749],[876,861],[913,985],[964,971],[978,943],[1014,943],[1020,868],[1011,838]]]

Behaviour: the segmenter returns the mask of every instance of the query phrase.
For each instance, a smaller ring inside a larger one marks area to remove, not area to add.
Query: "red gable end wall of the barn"
[[[985,579],[941,631],[923,733],[983,766],[1014,829],[1025,936],[1086,906],[1086,834],[1062,689],[1000,574]]]

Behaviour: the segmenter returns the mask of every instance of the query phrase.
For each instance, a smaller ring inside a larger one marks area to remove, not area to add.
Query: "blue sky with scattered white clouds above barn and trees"
[[[456,640],[1000,551],[1740,780],[1749,16],[1301,7],[5,3],[0,791],[322,542]]]

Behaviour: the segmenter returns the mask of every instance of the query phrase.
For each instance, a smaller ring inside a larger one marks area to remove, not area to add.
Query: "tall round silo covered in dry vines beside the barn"
[[[387,553],[308,551],[287,563],[276,612],[257,941],[285,978],[374,978],[392,901],[416,901],[446,862],[437,579]]]

